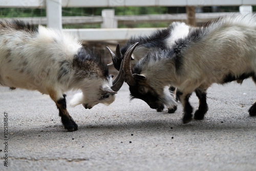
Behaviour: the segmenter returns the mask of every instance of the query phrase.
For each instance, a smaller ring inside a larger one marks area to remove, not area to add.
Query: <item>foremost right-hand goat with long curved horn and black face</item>
[[[242,83],[249,77],[256,82],[255,15],[232,14],[190,28],[187,36],[176,40],[171,48],[146,53],[132,71],[131,56],[137,45],[126,52],[123,62],[131,95],[140,99],[151,96],[173,105],[173,101],[164,98],[163,88],[177,87],[183,123],[192,119],[193,108],[188,99],[194,91],[200,104],[194,118],[203,119],[208,110],[206,91],[212,83]],[[248,112],[256,115],[256,102]]]

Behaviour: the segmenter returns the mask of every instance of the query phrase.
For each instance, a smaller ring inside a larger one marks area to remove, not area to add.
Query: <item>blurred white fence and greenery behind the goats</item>
[[[114,2],[111,4],[111,1]],[[72,2],[77,4],[72,5]],[[155,29],[166,28],[175,21],[200,26],[203,22],[228,13],[256,11],[256,1],[246,5],[225,1],[224,5],[217,3],[214,6],[209,6],[208,1],[195,1],[191,6],[184,1],[180,1],[180,4],[170,1],[165,3],[166,6],[153,0],[138,1],[138,4],[132,1],[135,3],[131,6],[122,5],[124,0],[102,0],[98,1],[97,5],[90,5],[89,2],[91,1],[2,1],[0,20],[16,18],[34,25],[71,31],[82,39],[84,46],[99,52],[101,58],[110,63],[111,57],[106,46],[115,51],[117,43],[122,46],[132,35],[143,35]],[[110,67],[110,70],[111,73],[116,73],[113,67]]]

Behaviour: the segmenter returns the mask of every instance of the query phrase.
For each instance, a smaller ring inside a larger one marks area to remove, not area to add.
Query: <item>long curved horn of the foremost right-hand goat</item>
[[[133,77],[133,72],[131,69],[131,57],[133,54],[134,49],[139,44],[139,42],[136,42],[133,44],[125,53],[124,55],[124,61],[123,61],[123,71],[125,74],[125,81],[129,86],[134,86],[136,83],[135,78]]]

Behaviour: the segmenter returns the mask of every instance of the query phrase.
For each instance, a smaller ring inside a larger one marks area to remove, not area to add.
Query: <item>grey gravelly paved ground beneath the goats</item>
[[[256,117],[247,112],[256,88],[249,79],[214,84],[205,119],[187,124],[180,103],[174,114],[156,112],[130,101],[127,84],[109,106],[69,106],[76,132],[63,129],[48,95],[1,87],[0,97],[1,170],[256,170]],[[195,110],[195,94],[190,102]]]

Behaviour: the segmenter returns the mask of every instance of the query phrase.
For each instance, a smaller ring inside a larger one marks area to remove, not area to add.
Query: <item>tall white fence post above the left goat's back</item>
[[[61,0],[46,0],[47,27],[62,29]]]

